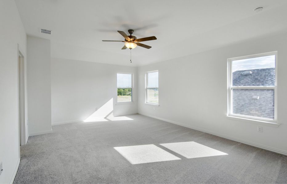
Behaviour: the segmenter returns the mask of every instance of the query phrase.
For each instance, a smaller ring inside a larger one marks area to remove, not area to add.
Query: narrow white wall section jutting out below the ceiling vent
[[[29,135],[51,131],[50,40],[27,36]]]

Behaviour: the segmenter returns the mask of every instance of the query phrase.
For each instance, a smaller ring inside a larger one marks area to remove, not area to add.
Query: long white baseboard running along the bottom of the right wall
[[[180,126],[183,126],[183,127],[191,128],[191,129],[194,129],[194,130],[198,130],[200,132],[209,133],[209,134],[212,134],[212,135],[215,135],[215,136],[219,136],[219,137],[222,137],[222,138],[225,138],[225,139],[229,139],[229,140],[233,140],[233,141],[236,141],[236,142],[240,142],[240,143],[243,143],[243,144],[248,144],[250,146],[254,146],[254,147],[257,147],[257,148],[265,149],[265,150],[268,150],[268,151],[273,151],[275,153],[280,153],[282,155],[287,155],[287,151],[284,151],[284,150],[280,150],[280,149],[264,146],[264,145],[261,145],[261,144],[252,143],[252,142],[249,142],[249,141],[237,139],[237,138],[230,137],[230,136],[225,136],[223,134],[219,134],[219,133],[212,132],[212,131],[209,131],[209,130],[205,130],[205,129],[202,129],[202,128],[193,127],[193,126],[190,126],[190,125],[185,125],[185,124],[179,123],[177,121],[172,121],[172,120],[168,120],[168,119],[164,119],[164,118],[160,118],[160,117],[156,117],[156,116],[151,116],[151,115],[145,114],[145,113],[138,113],[138,114],[141,114],[143,116],[152,117],[152,118],[155,118],[155,119],[159,119],[159,120],[162,120],[162,121],[166,121],[166,122],[169,122],[169,123],[173,123],[173,124],[176,124],[176,125],[180,125]]]

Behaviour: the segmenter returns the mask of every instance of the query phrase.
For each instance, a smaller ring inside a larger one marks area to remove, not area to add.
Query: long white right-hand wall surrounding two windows
[[[138,112],[287,154],[287,34],[138,68]],[[278,128],[227,119],[227,58],[278,51]],[[144,72],[159,70],[159,103],[144,104]]]

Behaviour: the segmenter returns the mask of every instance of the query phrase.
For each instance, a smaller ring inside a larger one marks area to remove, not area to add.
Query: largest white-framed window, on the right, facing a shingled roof
[[[276,122],[277,52],[228,59],[228,116]]]

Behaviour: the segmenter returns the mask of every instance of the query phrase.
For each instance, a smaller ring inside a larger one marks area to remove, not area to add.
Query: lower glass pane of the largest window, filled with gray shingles
[[[232,113],[274,119],[274,89],[232,89]]]

